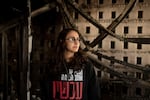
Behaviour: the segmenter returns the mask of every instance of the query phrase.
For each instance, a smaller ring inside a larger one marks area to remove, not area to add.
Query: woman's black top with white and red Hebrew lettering
[[[87,62],[83,69],[51,74],[43,78],[42,100],[100,100],[99,82],[94,67]]]

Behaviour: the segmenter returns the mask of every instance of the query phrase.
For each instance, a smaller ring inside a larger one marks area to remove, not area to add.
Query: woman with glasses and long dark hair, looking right
[[[80,49],[75,29],[60,32],[42,81],[42,100],[100,100],[92,63]]]

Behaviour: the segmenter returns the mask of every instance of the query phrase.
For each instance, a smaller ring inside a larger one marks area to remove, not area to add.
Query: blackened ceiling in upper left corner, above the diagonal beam
[[[12,20],[28,12],[29,0],[1,0],[0,1],[0,23]],[[31,0],[31,10],[44,6],[44,0]]]

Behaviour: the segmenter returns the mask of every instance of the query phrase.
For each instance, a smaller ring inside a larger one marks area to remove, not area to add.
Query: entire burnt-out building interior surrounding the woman
[[[80,31],[102,100],[150,99],[149,0],[5,0],[0,5],[0,100],[40,98],[43,67],[65,27]]]

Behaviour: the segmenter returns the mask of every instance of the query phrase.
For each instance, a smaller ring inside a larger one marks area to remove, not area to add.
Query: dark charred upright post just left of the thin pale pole
[[[27,67],[28,67],[28,34],[27,25],[20,25],[20,32],[17,34],[18,41],[18,99],[27,100]]]

